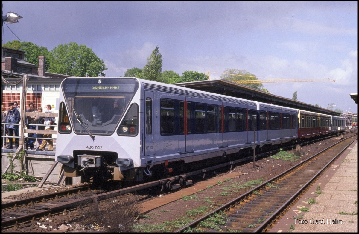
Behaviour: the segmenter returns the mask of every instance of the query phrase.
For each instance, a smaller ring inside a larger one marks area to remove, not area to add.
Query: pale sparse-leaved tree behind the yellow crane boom
[[[234,80],[258,80],[256,78],[256,75],[247,72],[245,70],[239,70],[239,69],[235,69],[235,68],[227,68],[226,70],[224,70],[223,73],[226,74],[222,74],[221,78],[225,79],[225,80],[229,80],[229,81],[234,81]],[[262,89],[263,88],[263,84],[262,83],[242,83],[242,85],[251,87],[253,89]]]

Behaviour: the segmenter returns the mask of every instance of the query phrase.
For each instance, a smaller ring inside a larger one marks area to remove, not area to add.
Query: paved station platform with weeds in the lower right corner
[[[317,191],[323,193],[318,195]],[[308,201],[312,199],[316,203],[310,205]],[[357,202],[358,142],[355,141],[269,232],[357,233]],[[302,208],[309,210],[301,211]]]

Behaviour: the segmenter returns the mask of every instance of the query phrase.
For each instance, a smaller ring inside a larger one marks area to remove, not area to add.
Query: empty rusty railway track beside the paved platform
[[[176,230],[194,229],[201,221],[222,211],[227,221],[218,230],[205,231],[268,231],[308,190],[335,159],[353,142],[346,138],[322,152],[271,178],[245,194],[227,202],[192,223]],[[201,229],[201,228],[199,228]],[[202,229],[203,231],[203,229]]]

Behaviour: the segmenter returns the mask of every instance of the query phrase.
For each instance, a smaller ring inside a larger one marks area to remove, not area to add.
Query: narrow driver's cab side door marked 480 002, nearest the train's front
[[[144,132],[144,138],[145,138],[145,156],[153,155],[154,154],[154,121],[153,121],[153,106],[154,106],[154,100],[153,100],[153,92],[145,91],[145,132]]]

